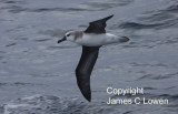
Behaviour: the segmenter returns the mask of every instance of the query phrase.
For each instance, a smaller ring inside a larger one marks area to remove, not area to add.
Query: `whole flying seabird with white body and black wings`
[[[69,31],[58,41],[60,43],[68,40],[82,45],[82,54],[76,69],[76,77],[82,95],[89,102],[91,101],[90,75],[97,61],[99,49],[105,44],[129,41],[127,37],[106,33],[106,22],[112,17],[113,14],[90,22],[85,31]]]

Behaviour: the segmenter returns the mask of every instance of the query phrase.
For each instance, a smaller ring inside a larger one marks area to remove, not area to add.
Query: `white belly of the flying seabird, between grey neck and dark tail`
[[[102,34],[85,33],[82,38],[76,40],[76,43],[86,46],[100,46],[115,42],[119,42],[119,37],[110,33],[102,33]]]

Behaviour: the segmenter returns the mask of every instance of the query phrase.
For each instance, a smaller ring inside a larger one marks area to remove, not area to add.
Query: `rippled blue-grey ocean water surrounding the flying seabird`
[[[106,45],[91,74],[92,100],[75,70],[81,46],[57,41],[115,14],[106,30],[130,41]],[[144,87],[168,104],[107,104],[107,87]],[[0,0],[0,114],[177,114],[178,0]]]

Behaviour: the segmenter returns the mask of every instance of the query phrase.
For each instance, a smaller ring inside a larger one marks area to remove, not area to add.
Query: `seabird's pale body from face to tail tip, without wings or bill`
[[[111,33],[85,33],[83,31],[69,31],[65,40],[86,46],[101,46],[111,43],[127,42],[127,37],[118,37]]]

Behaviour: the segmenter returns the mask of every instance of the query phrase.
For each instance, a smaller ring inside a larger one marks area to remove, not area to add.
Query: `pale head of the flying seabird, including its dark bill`
[[[58,43],[66,41],[66,40],[75,41],[75,32],[73,31],[67,32],[62,39],[58,40]]]

